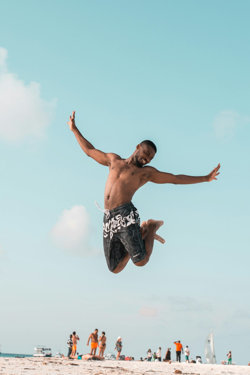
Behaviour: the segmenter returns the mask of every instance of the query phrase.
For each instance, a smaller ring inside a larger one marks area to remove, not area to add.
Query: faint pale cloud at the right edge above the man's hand
[[[220,111],[214,117],[213,127],[219,138],[230,138],[234,133],[250,122],[250,117],[238,114],[236,111]]]

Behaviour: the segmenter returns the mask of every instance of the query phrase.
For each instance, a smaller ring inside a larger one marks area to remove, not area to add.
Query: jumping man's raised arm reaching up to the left
[[[110,159],[112,159],[112,157],[114,156],[118,156],[113,153],[105,153],[103,151],[97,150],[96,148],[94,148],[93,144],[91,144],[89,141],[87,141],[87,139],[84,138],[84,136],[82,136],[75,124],[75,111],[72,112],[72,117],[69,117],[69,122],[67,122],[67,124],[69,125],[70,130],[72,130],[72,132],[75,134],[75,137],[85,154],[92,157],[92,159],[96,160],[97,163],[109,166]]]

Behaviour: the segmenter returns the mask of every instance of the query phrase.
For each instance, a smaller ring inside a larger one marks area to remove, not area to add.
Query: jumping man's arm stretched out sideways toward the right
[[[210,182],[212,180],[217,180],[216,176],[220,174],[218,172],[220,169],[220,163],[217,167],[213,169],[208,175],[206,176],[186,176],[185,174],[171,174],[160,172],[156,168],[152,167],[152,171],[149,174],[149,181],[154,182],[156,184],[178,184],[178,185],[187,185],[187,184],[197,184],[199,182]]]

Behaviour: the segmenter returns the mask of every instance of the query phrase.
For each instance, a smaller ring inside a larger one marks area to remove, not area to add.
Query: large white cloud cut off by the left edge
[[[26,85],[8,72],[8,52],[0,47],[0,139],[21,141],[27,136],[41,138],[51,123],[56,100],[40,97],[40,84]]]

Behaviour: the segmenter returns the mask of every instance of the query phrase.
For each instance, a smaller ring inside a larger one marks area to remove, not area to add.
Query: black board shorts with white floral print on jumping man
[[[132,203],[105,212],[103,248],[108,268],[113,272],[128,253],[133,263],[145,258],[145,242],[140,232],[140,217]]]

